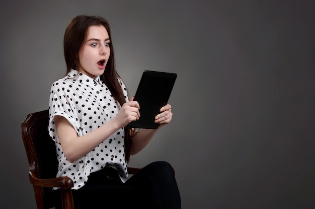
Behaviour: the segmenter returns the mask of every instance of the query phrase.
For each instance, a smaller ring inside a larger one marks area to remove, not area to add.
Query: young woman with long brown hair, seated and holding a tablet
[[[74,182],[75,208],[181,208],[169,163],[150,163],[130,178],[127,173],[130,154],[171,122],[171,105],[156,115],[158,129],[125,128],[141,117],[140,106],[129,100],[115,70],[110,27],[102,17],[75,17],[63,45],[67,72],[51,86],[49,133],[56,142],[57,176]]]

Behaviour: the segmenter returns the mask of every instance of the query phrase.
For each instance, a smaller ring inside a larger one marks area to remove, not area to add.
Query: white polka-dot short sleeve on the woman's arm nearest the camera
[[[49,97],[49,135],[52,139],[60,143],[54,117],[62,116],[68,120],[68,122],[73,126],[78,135],[80,134],[80,124],[77,122],[77,117],[73,111],[73,104],[68,96],[71,94],[71,89],[67,87],[66,82],[60,80],[54,82],[51,86],[50,97]]]

